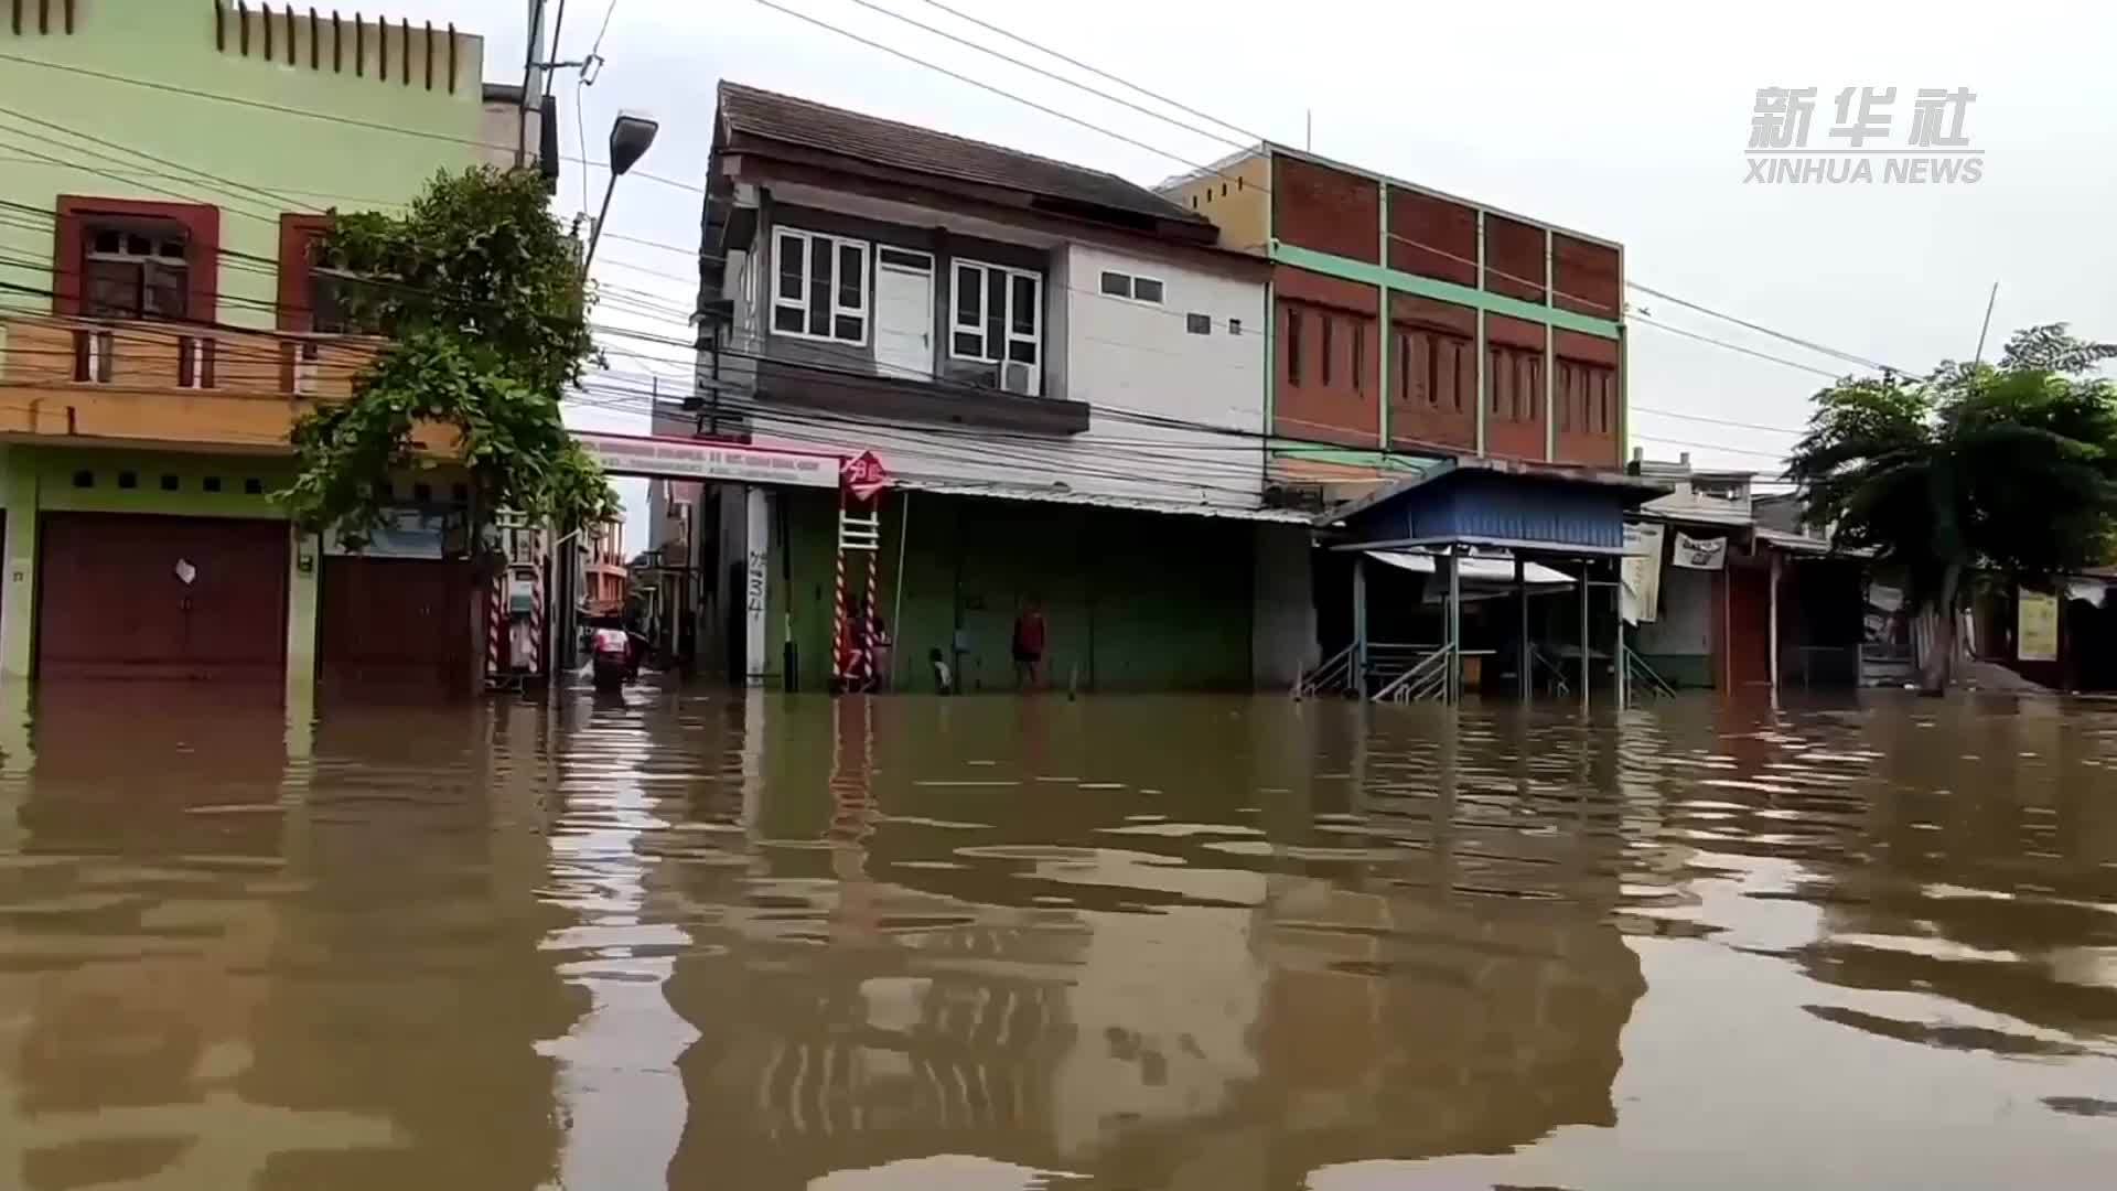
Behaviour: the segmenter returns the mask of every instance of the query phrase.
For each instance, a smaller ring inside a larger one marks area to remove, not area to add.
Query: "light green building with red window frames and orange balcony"
[[[269,494],[294,417],[373,352],[311,267],[324,212],[514,163],[548,112],[483,83],[478,36],[404,17],[55,0],[0,21],[0,672],[290,701],[334,665],[468,680],[474,600],[440,559],[453,485],[404,483],[406,523],[434,532],[358,559]],[[406,642],[436,600],[464,619]]]

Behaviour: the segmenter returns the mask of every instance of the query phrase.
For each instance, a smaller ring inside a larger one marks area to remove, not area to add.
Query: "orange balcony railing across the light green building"
[[[345,398],[379,339],[182,322],[0,312],[0,381],[21,388],[184,390]]]

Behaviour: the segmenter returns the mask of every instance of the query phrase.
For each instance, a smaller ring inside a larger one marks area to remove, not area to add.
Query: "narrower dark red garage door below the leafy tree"
[[[470,693],[470,564],[326,557],[324,685],[404,695]]]

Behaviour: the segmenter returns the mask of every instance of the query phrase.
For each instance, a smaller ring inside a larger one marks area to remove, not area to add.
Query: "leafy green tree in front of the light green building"
[[[332,212],[318,261],[347,278],[351,318],[387,343],[349,401],[294,424],[301,470],[279,498],[303,526],[364,543],[390,477],[434,464],[470,473],[474,530],[502,509],[561,530],[616,515],[616,494],[559,413],[595,341],[576,246],[538,174],[438,174],[402,216]],[[455,430],[455,458],[417,439],[432,426]]]

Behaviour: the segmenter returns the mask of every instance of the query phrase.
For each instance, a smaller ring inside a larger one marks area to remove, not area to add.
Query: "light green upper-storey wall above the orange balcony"
[[[349,8],[345,17],[349,36]],[[423,53],[417,51],[413,61],[419,72],[409,87],[398,81],[396,61],[390,64],[387,83],[377,78],[373,61],[364,78],[354,76],[351,61],[343,74],[332,74],[328,8],[322,70],[309,70],[305,36],[298,38],[298,66],[286,66],[284,25],[275,34],[277,61],[265,61],[256,4],[250,19],[252,57],[241,57],[235,51],[233,15],[229,51],[214,49],[214,6],[207,0],[95,0],[76,6],[72,36],[8,36],[0,40],[0,53],[409,131],[324,123],[0,59],[0,106],[59,125],[13,117],[6,121],[6,136],[0,136],[0,199],[40,212],[53,210],[55,195],[212,203],[222,208],[222,248],[277,259],[277,220],[284,212],[398,206],[436,170],[462,170],[478,159],[478,148],[462,144],[481,140],[478,38],[459,38],[457,89],[451,95],[442,85],[445,61],[436,64],[440,78],[434,91],[423,87]],[[303,15],[296,28],[305,23]],[[417,36],[415,28],[415,47]],[[392,32],[392,45],[394,38]],[[373,28],[366,40],[373,55]],[[457,140],[411,136],[419,131]],[[53,165],[40,161],[40,155],[76,165]],[[148,155],[161,161],[150,161]],[[277,197],[260,195],[258,189]],[[30,263],[0,265],[0,282],[49,290],[51,250],[47,216],[0,208],[0,259]],[[220,295],[220,322],[273,324],[277,290],[269,265],[222,259]],[[51,305],[49,299],[21,292],[0,292],[0,303],[30,309]]]

